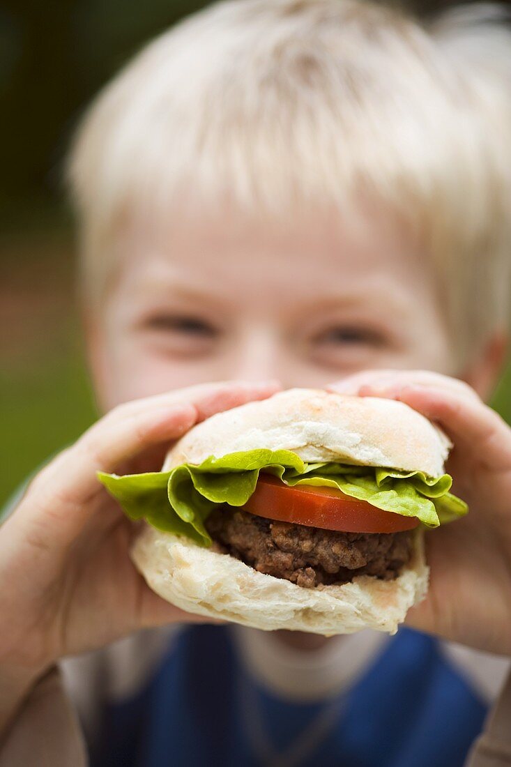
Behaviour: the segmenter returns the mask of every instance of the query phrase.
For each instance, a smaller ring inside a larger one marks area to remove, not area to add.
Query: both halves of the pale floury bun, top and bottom
[[[217,413],[193,427],[163,466],[199,464],[236,451],[288,449],[303,460],[443,473],[447,437],[404,403],[293,389]],[[346,584],[303,588],[211,548],[146,526],[131,556],[153,591],[190,613],[259,628],[394,634],[427,591],[423,530],[414,531],[410,562],[391,581],[368,575]]]

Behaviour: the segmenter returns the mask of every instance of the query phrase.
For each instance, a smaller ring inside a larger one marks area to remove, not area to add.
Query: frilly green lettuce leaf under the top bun
[[[131,519],[143,518],[159,530],[208,546],[206,517],[219,505],[246,504],[261,471],[278,476],[288,486],[337,488],[378,509],[417,517],[431,528],[468,511],[466,503],[449,492],[448,474],[430,477],[424,472],[372,466],[304,463],[290,450],[248,450],[222,458],[209,456],[199,466],[185,463],[168,472],[128,476],[99,472],[98,478]]]

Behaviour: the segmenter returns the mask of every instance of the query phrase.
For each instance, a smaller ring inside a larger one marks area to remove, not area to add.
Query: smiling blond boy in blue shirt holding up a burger
[[[0,764],[86,763],[51,671],[79,654],[64,676],[94,765],[463,764],[503,662],[409,629],[187,627],[95,472],[158,469],[269,379],[407,401],[453,436],[472,508],[428,538],[410,625],[511,653],[511,433],[477,397],[505,349],[511,54],[470,13],[426,29],[358,0],[229,2],[94,105],[71,179],[110,412],[0,528]]]

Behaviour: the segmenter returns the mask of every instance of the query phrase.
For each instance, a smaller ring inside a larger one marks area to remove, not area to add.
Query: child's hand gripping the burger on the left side
[[[128,556],[137,527],[96,472],[161,456],[194,423],[275,388],[204,384],[120,405],[35,477],[0,527],[0,729],[58,658],[142,627],[204,621],[150,591]]]

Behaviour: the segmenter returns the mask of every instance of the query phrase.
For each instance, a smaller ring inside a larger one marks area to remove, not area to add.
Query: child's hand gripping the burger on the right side
[[[401,400],[436,421],[455,445],[447,470],[470,506],[427,532],[426,599],[407,624],[450,640],[511,654],[511,430],[461,381],[423,371],[370,370],[329,387]]]

